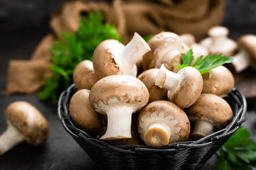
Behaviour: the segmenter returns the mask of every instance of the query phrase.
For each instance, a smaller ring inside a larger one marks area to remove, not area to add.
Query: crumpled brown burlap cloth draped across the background
[[[192,33],[197,40],[209,28],[219,25],[224,15],[223,0],[127,0],[112,4],[96,1],[66,1],[53,13],[50,20],[52,35],[46,35],[33,52],[31,60],[9,62],[6,94],[33,93],[51,76],[50,46],[61,33],[78,30],[81,15],[100,11],[105,22],[116,26],[124,44],[134,32],[146,36],[163,30],[174,33]]]

